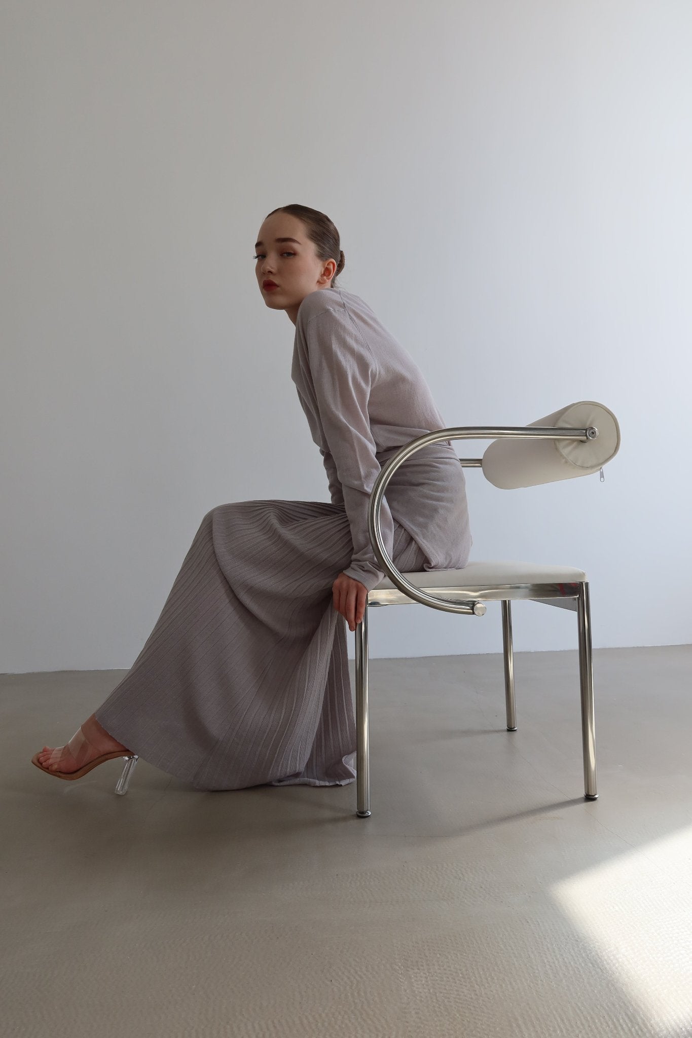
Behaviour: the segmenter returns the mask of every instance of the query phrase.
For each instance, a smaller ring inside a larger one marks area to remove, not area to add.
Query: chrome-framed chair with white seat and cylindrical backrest
[[[594,418],[598,418],[601,431],[594,425]],[[583,428],[574,428],[579,419]],[[385,548],[380,510],[390,479],[399,465],[426,444],[458,439],[493,439],[494,442],[482,458],[460,458],[460,462],[465,468],[482,468],[483,474],[496,486],[513,489],[599,471],[619,449],[619,427],[612,412],[603,405],[582,401],[527,427],[458,427],[427,433],[403,446],[382,468],[370,493],[368,530],[375,554],[387,576],[368,592],[363,619],[356,626],[356,814],[359,818],[367,818],[371,814],[368,609],[370,606],[407,605],[411,602],[420,602],[446,612],[481,617],[486,612],[486,602],[501,601],[508,732],[517,731],[511,602],[518,599],[543,602],[572,609],[577,613],[584,798],[596,800],[599,795],[596,775],[591,616],[586,574],[569,566],[515,562],[473,562],[461,570],[404,574],[396,569]],[[438,594],[435,595],[435,592]]]

